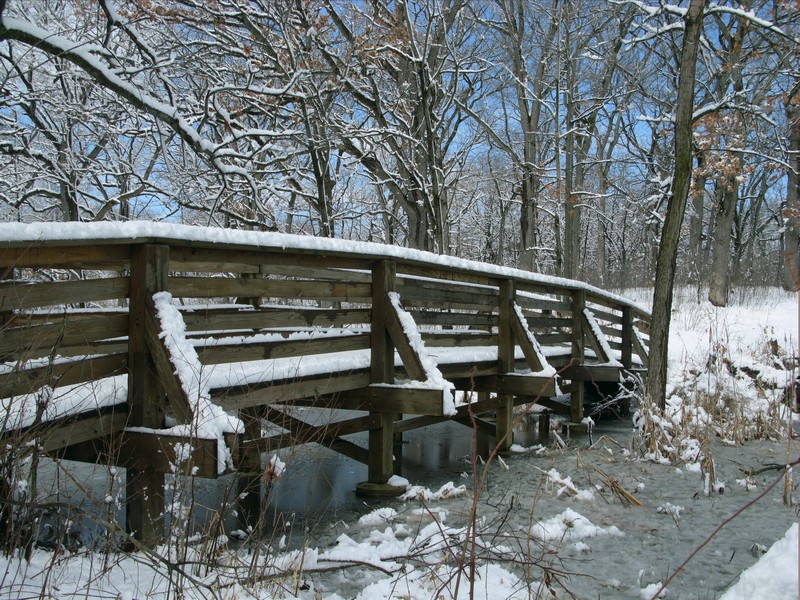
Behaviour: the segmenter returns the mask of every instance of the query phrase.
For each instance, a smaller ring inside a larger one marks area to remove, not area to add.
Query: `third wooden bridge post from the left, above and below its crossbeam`
[[[513,310],[516,288],[514,282],[504,280],[500,282],[499,310],[497,316],[497,373],[505,375],[514,372],[514,350],[516,347],[514,331],[511,326],[511,311]],[[498,394],[497,419],[495,422],[495,435],[498,450],[507,452],[514,443],[514,396],[511,394]]]

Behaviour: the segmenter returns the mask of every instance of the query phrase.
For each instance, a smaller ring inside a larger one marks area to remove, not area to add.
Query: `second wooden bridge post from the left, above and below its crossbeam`
[[[389,293],[395,291],[396,265],[382,260],[372,268],[372,353],[370,362],[371,383],[394,383],[394,345],[386,327],[386,315],[393,310]],[[375,413],[371,413],[375,414]],[[394,442],[394,414],[378,413],[381,425],[369,430],[369,464],[367,483],[385,484],[394,474],[392,446]],[[366,488],[361,488],[365,491]]]

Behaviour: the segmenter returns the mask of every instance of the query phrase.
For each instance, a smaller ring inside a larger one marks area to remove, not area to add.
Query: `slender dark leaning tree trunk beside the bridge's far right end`
[[[689,186],[692,181],[692,112],[697,49],[703,30],[706,0],[691,0],[684,16],[683,44],[678,74],[678,99],[675,113],[675,165],[672,188],[667,205],[664,229],[656,265],[653,290],[653,316],[650,331],[650,365],[647,395],[660,408],[666,404],[669,324],[672,312],[672,289],[678,258],[681,225],[686,212]]]

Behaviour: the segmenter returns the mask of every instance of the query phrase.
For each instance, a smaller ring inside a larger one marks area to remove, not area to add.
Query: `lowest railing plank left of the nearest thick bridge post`
[[[125,352],[14,370],[0,375],[0,398],[29,394],[43,385],[59,387],[120,375],[126,371],[127,364]]]

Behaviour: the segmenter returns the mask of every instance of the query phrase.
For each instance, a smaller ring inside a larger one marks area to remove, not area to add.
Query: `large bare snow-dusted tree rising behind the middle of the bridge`
[[[320,52],[352,101],[336,116],[343,150],[404,215],[413,247],[450,251],[451,192],[471,144],[458,98],[472,90],[465,2],[326,3]]]

